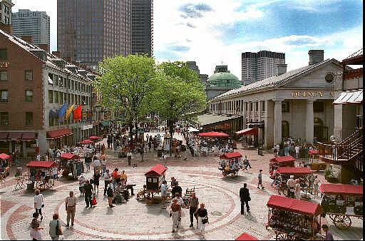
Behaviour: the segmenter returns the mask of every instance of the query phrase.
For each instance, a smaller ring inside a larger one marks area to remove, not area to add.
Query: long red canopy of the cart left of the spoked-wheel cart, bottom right
[[[322,207],[318,203],[307,202],[278,195],[272,195],[267,202],[267,206],[309,216],[319,215],[322,213]]]

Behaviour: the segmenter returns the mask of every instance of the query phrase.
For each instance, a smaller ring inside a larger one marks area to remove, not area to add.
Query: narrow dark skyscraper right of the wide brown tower
[[[153,56],[153,0],[132,1],[132,53]]]

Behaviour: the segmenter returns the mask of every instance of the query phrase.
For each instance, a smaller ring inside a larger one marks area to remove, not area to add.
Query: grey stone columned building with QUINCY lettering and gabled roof
[[[284,68],[278,76],[212,98],[210,113],[242,116],[245,128],[258,128],[265,149],[285,137],[310,143],[314,137],[329,140],[334,130],[334,75],[339,71],[339,61],[324,60],[323,50],[311,50],[308,66],[289,72]]]

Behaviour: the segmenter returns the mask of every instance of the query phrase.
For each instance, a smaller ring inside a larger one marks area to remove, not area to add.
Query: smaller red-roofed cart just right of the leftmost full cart
[[[62,153],[58,167],[62,169],[62,176],[77,180],[84,172],[83,162],[80,157],[73,153]]]

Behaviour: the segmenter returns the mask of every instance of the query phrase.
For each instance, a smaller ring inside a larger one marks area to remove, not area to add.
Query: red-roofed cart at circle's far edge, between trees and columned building
[[[237,176],[238,171],[243,167],[241,153],[225,153],[220,156],[218,161],[219,170],[222,171],[223,176],[232,175]]]

